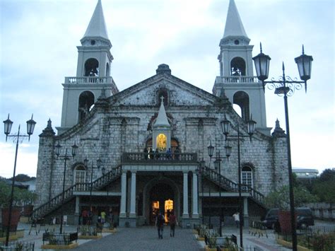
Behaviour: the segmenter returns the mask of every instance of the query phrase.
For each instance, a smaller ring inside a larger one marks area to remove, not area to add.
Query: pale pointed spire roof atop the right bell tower
[[[248,37],[245,33],[245,28],[243,27],[240,14],[237,11],[237,7],[234,0],[230,0],[227,20],[225,21],[225,33],[223,33],[223,38],[225,37]]]

